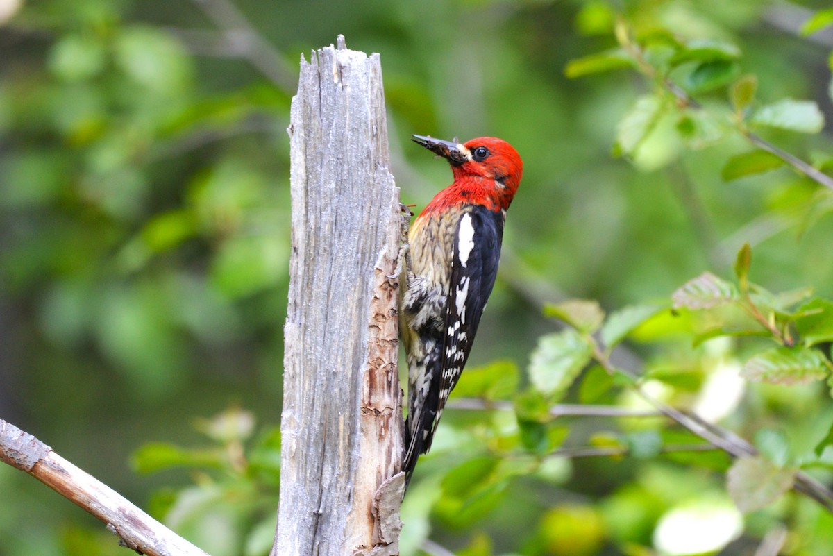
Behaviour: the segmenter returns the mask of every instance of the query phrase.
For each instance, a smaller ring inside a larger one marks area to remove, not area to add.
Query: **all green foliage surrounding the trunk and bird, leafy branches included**
[[[479,409],[446,411],[402,554],[831,554],[788,489],[833,476],[833,195],[750,141],[833,168],[826,2],[236,6],[0,0],[0,417],[209,553],[267,554],[284,130],[299,53],[343,33],[382,53],[403,201],[450,181],[411,133],[525,161],[451,403]],[[0,499],[0,554],[123,550],[11,468]]]

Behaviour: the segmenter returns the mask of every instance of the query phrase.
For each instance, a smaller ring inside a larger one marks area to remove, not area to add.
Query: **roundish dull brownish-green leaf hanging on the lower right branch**
[[[726,473],[726,486],[738,509],[752,512],[781,498],[795,478],[793,469],[781,469],[756,456],[737,459]]]

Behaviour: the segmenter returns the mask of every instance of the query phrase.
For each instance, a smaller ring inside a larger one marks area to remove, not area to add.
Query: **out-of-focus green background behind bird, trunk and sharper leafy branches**
[[[632,69],[565,75],[572,59],[616,47],[622,13],[642,32],[735,45],[737,75],[756,75],[761,102],[810,99],[831,121],[831,33],[798,32],[826,7],[0,0],[0,417],[158,515],[181,489],[217,479],[193,460],[141,474],[132,454],[143,445],[222,444],[222,423],[200,419],[228,410],[242,437],[257,430],[261,447],[274,448],[288,280],[285,130],[299,57],[339,33],[352,49],[382,54],[403,201],[424,206],[450,181],[445,164],[408,141],[412,133],[495,135],[524,158],[470,365],[502,360],[523,370],[538,337],[556,329],[541,315],[545,303],[578,297],[612,310],[667,299],[701,271],[731,276],[745,241],[758,283],[833,295],[833,219],[820,186],[787,169],[724,181],[727,158],[751,148],[731,132],[693,148],[672,124],[635,156],[614,156],[619,122],[653,83]],[[718,115],[728,111],[726,87],[697,96]],[[830,129],[766,138],[824,161],[833,156]],[[656,353],[629,349],[645,360]],[[758,393],[736,423],[747,433],[786,423],[789,433],[812,411],[823,436],[831,412],[820,392]],[[465,423],[449,413],[449,423]],[[681,501],[668,493],[691,481],[688,494],[706,485],[719,497],[721,478],[651,465],[557,465],[546,487],[521,480],[496,509],[469,520],[455,520],[451,507],[426,509],[412,531],[431,527],[432,539],[466,554],[657,554],[656,524]],[[176,508],[194,514],[179,524],[209,553],[264,554],[274,484],[258,487],[271,498],[245,515],[199,509],[212,500],[233,506],[234,492],[188,490],[192,505],[178,499]],[[238,500],[257,505],[243,490]],[[0,500],[3,556],[123,552],[94,519],[7,466]],[[725,554],[752,554],[785,515],[805,519],[806,531],[830,524],[815,507],[785,504],[797,513],[757,517],[766,525]],[[255,514],[260,540],[247,533]],[[831,544],[811,549],[784,554],[829,554]]]

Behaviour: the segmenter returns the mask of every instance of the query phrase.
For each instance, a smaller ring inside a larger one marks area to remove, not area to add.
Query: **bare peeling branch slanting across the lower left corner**
[[[208,556],[32,434],[0,419],[0,461],[46,484],[107,524],[119,544],[149,556]]]

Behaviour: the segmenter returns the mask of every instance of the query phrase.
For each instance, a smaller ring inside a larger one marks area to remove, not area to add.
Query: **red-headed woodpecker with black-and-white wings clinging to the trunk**
[[[406,488],[416,459],[431,448],[448,395],[460,379],[501,256],[506,209],[523,162],[496,137],[466,143],[415,135],[446,158],[451,186],[425,207],[408,232],[400,330],[408,362]]]

